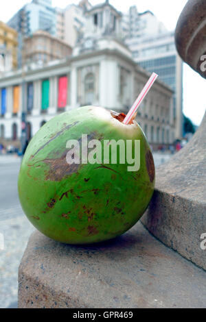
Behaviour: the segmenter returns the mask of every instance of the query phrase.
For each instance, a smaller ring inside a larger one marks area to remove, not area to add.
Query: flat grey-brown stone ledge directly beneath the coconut
[[[19,268],[19,308],[205,308],[205,271],[137,223],[90,247],[32,234]]]

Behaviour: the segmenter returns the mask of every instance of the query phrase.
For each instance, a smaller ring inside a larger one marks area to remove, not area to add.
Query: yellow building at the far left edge
[[[0,21],[0,71],[10,71],[17,66],[17,32]]]

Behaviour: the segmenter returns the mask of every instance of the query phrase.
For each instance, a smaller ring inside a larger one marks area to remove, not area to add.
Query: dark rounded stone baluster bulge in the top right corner
[[[206,54],[205,33],[206,1],[187,1],[176,25],[176,48],[181,58],[206,78],[206,71],[201,71],[201,56]]]

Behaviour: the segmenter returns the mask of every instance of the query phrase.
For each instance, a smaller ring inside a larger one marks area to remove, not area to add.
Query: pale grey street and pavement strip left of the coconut
[[[0,308],[16,308],[18,268],[27,240],[34,230],[21,210],[17,178],[21,160],[0,156]]]

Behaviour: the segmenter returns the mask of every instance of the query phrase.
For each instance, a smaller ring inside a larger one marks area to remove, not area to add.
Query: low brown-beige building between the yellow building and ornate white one
[[[23,45],[23,64],[45,64],[71,55],[71,47],[63,40],[39,30],[27,37]]]

